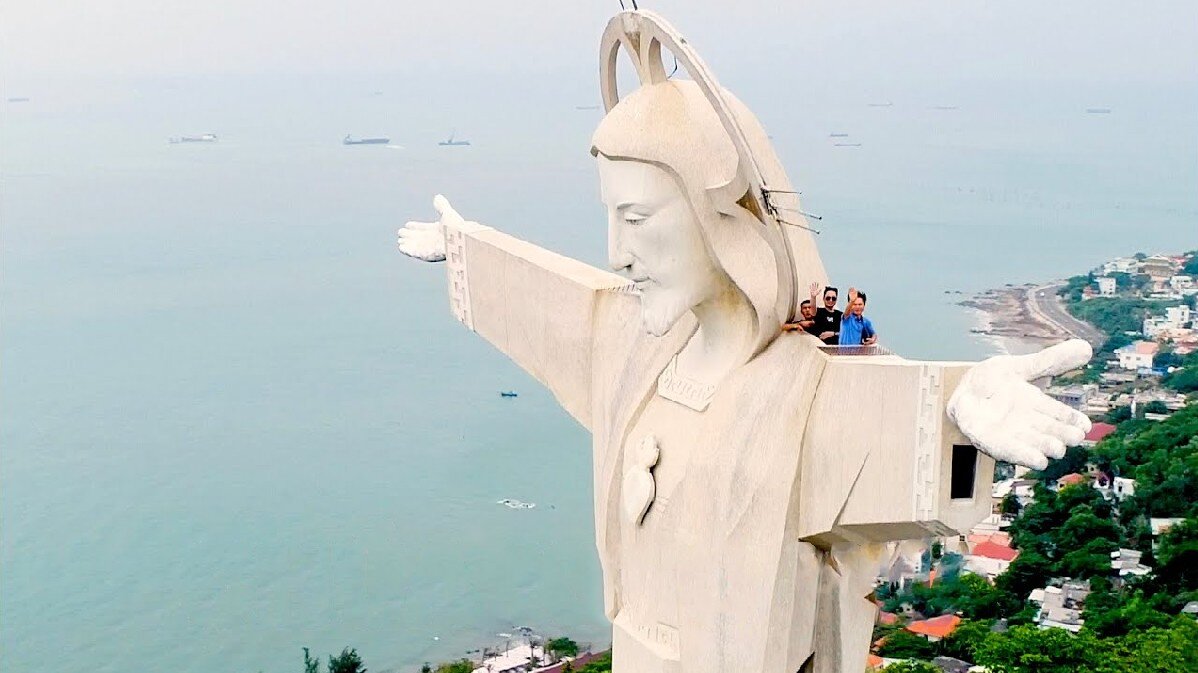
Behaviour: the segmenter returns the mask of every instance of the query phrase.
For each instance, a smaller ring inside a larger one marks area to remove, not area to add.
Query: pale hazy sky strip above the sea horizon
[[[630,5],[630,0],[625,0]],[[1198,1],[659,0],[709,61],[839,77],[1198,80]],[[6,0],[0,74],[594,67],[617,0]]]

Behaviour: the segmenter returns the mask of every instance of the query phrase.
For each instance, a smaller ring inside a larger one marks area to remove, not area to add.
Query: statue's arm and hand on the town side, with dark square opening
[[[991,511],[994,460],[1042,469],[1081,443],[1085,416],[1030,381],[1089,358],[1076,340],[981,363],[829,358],[803,437],[800,536],[968,530]]]

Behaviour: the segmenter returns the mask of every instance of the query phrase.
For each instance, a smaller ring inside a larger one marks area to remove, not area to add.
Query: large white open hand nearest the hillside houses
[[[1029,383],[1077,369],[1094,354],[1081,339],[1025,356],[998,356],[966,372],[949,400],[949,418],[980,450],[1043,469],[1065,447],[1082,443],[1090,430],[1085,414],[1053,400]]]

